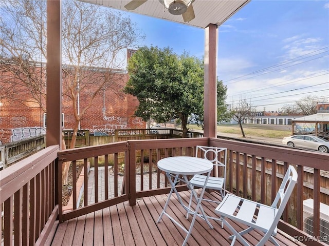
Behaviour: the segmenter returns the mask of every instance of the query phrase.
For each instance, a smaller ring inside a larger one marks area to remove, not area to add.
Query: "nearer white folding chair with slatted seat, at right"
[[[279,246],[273,236],[277,234],[277,225],[280,217],[286,207],[291,193],[297,182],[297,172],[293,166],[289,166],[280,189],[271,206],[250,201],[232,194],[226,194],[223,201],[215,209],[215,213],[221,215],[224,224],[231,230],[233,235],[229,237],[234,244],[235,239],[244,245],[249,245],[242,235],[252,230],[260,230],[265,233],[262,239],[256,245],[264,245],[270,240]],[[237,232],[227,219],[246,224],[249,228],[241,232]]]

